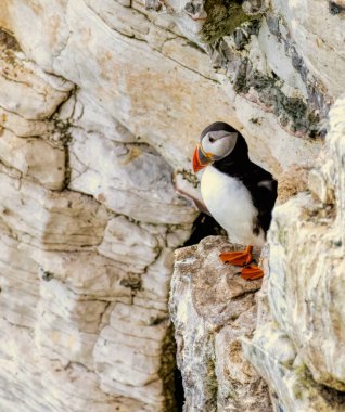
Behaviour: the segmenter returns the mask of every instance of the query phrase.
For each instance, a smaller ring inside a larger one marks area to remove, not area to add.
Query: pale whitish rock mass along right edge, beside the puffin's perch
[[[310,193],[274,210],[261,320],[245,352],[284,411],[344,411],[345,98],[330,112]]]

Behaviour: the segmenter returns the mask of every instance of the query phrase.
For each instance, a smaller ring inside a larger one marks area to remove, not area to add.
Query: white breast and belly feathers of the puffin
[[[202,176],[201,193],[209,213],[226,229],[231,242],[264,245],[264,232],[260,231],[259,235],[253,233],[257,210],[241,181],[208,166]]]

